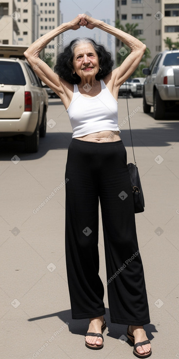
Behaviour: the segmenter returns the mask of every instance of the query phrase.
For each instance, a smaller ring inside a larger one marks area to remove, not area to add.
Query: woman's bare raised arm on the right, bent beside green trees
[[[115,68],[115,70],[113,70],[113,81],[115,85],[119,87],[130,77],[130,75],[139,66],[142,56],[146,50],[146,45],[144,45],[134,36],[129,35],[114,26],[108,25],[103,21],[93,19],[85,14],[82,14],[82,16],[87,22],[85,25],[86,27],[90,29],[98,27],[99,29],[106,31],[109,34],[114,35],[117,39],[119,39],[125,45],[131,48],[130,54],[126,57],[123,63],[119,67]]]

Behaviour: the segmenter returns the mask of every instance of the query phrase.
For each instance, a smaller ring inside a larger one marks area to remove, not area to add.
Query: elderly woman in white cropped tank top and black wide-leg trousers
[[[97,27],[131,48],[112,70],[111,54],[92,39],[73,40],[57,58],[55,72],[40,61],[40,51],[64,31]],[[72,318],[89,318],[85,345],[103,347],[104,287],[99,278],[99,201],[102,214],[107,290],[112,323],[127,324],[134,355],[147,358],[150,323],[126,150],[119,137],[118,91],[138,67],[146,45],[85,14],[43,35],[24,55],[40,79],[54,90],[73,128],[66,182],[66,266]],[[124,196],[120,196],[123,192]]]

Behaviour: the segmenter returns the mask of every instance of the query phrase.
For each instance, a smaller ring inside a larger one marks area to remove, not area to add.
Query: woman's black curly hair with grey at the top
[[[93,45],[98,55],[101,71],[96,74],[96,80],[103,79],[108,75],[114,65],[111,53],[107,51],[103,45],[97,44],[93,39],[77,38],[72,40],[71,43],[64,48],[64,51],[58,54],[57,63],[54,67],[54,71],[70,84],[79,84],[81,81],[80,76],[77,75],[76,72],[73,74],[74,48],[81,43],[90,43]]]

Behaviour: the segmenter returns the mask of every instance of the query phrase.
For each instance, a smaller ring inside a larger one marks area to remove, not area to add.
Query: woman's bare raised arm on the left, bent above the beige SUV
[[[65,95],[68,94],[68,83],[60,79],[59,76],[47,64],[45,64],[43,60],[40,59],[39,53],[52,39],[54,39],[59,34],[67,30],[79,29],[80,20],[81,16],[78,15],[71,22],[62,23],[57,28],[41,36],[24,52],[24,56],[36,74],[40,77],[40,79],[60,97],[65,97]]]

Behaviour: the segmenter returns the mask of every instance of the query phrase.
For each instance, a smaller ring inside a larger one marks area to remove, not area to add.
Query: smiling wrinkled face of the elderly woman
[[[73,68],[80,78],[95,77],[99,71],[99,58],[90,43],[82,43],[74,48]]]

